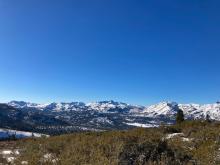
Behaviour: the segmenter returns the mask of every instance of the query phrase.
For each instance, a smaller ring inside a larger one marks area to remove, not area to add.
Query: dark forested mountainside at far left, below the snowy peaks
[[[41,111],[27,111],[7,104],[0,104],[0,128],[39,131],[37,126],[51,127],[60,125],[65,126],[68,124],[65,121],[56,119],[53,115]]]

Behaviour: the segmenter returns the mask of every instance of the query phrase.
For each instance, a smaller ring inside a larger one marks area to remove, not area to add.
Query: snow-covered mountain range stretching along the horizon
[[[101,101],[85,104],[83,102],[36,104],[24,101],[11,101],[8,105],[18,109],[35,109],[50,112],[97,111],[100,113],[129,113],[146,117],[173,117],[178,109],[183,110],[186,118],[205,118],[220,120],[220,102],[213,104],[178,104],[176,102],[160,102],[148,107],[130,105],[115,101]]]

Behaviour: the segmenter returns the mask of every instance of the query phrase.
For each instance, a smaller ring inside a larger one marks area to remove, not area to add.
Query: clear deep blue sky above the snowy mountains
[[[0,0],[0,102],[215,102],[219,9],[219,0]]]

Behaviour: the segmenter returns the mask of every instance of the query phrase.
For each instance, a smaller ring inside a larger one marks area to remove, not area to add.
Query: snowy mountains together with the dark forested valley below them
[[[26,127],[32,126],[40,133],[102,131],[129,129],[135,126],[156,127],[161,122],[174,123],[179,109],[183,110],[186,119],[205,119],[208,115],[210,119],[220,120],[219,102],[205,105],[161,102],[144,107],[115,101],[88,104],[83,102],[37,104],[11,101],[4,106],[8,106],[8,116],[3,118],[7,121],[15,121],[14,123],[25,123]],[[1,116],[4,114],[0,113]],[[8,122],[1,121],[2,125],[4,123]]]

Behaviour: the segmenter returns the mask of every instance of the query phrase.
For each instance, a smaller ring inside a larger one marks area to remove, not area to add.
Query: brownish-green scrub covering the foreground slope
[[[160,128],[26,139],[16,145],[21,154],[15,164],[215,165],[220,164],[220,124],[185,121]]]

